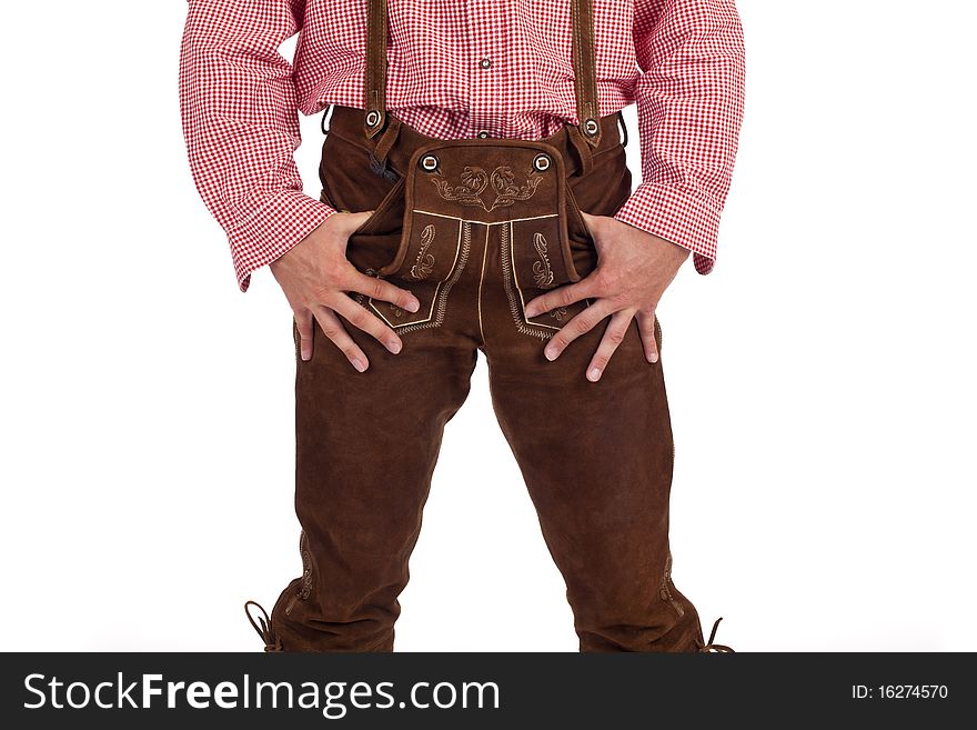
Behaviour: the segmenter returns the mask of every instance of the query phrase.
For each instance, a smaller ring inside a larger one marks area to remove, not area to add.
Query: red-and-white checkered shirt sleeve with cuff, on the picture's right
[[[642,182],[615,218],[693,251],[708,273],[743,120],[733,0],[636,0]]]

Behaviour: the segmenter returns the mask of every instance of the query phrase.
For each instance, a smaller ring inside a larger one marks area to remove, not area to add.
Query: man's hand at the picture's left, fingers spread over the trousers
[[[274,278],[285,292],[295,314],[301,337],[302,360],[312,358],[312,320],[319,322],[323,333],[332,340],[350,363],[360,372],[370,367],[366,354],[353,341],[340,321],[342,316],[350,324],[372,334],[387,350],[396,354],[403,343],[383,321],[357,304],[346,292],[356,292],[380,301],[416,312],[417,299],[406,289],[374,277],[360,273],[346,259],[350,236],[362,226],[372,211],[362,213],[334,213],[306,236],[295,247],[271,263]]]

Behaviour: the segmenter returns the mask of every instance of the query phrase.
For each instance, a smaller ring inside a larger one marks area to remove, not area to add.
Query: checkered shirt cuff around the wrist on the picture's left
[[[299,190],[283,190],[228,236],[241,291],[251,273],[291,250],[338,212]]]

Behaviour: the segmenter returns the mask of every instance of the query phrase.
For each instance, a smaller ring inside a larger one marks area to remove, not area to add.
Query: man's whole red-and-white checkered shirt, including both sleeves
[[[302,192],[296,112],[362,108],[366,1],[189,4],[190,164],[246,290],[335,212]],[[616,218],[691,249],[707,273],[743,111],[734,0],[594,0],[594,11],[600,112],[637,103],[639,120],[642,182]],[[387,107],[422,133],[540,139],[577,123],[568,1],[389,0],[389,13]],[[296,32],[292,64],[279,47]]]

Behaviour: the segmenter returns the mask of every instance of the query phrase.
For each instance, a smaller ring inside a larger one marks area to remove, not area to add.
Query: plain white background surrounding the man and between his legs
[[[742,651],[977,649],[977,10],[739,8],[719,261],[659,311],[676,584]],[[243,601],[301,568],[290,310],[266,271],[239,293],[191,182],[185,4],[4,12],[3,648],[258,651]],[[485,374],[445,434],[397,649],[574,651]]]

